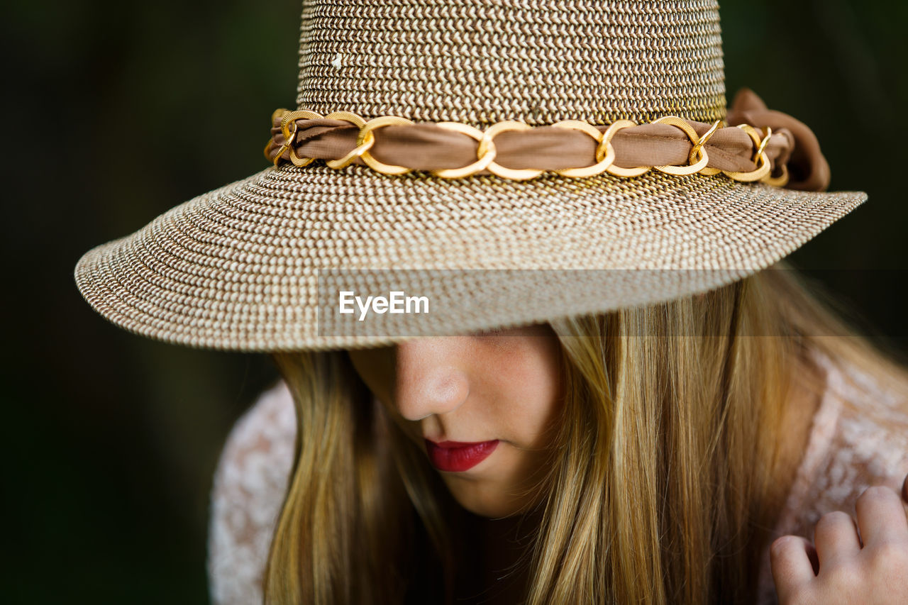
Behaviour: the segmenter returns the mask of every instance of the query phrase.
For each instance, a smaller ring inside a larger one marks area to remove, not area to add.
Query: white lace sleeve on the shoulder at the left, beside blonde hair
[[[236,422],[214,474],[208,578],[215,605],[262,602],[262,572],[281,509],[296,433],[285,382]]]

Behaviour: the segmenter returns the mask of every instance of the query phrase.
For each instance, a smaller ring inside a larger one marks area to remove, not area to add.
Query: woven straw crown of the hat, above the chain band
[[[307,0],[297,106],[482,126],[725,117],[713,0]]]

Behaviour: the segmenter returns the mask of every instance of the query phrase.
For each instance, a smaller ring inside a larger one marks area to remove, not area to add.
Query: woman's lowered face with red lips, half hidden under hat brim
[[[548,323],[348,353],[461,506],[497,518],[535,500],[563,395]]]

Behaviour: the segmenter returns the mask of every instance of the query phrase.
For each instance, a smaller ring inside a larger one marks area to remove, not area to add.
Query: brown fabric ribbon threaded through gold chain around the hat
[[[756,94],[742,90],[727,114],[729,126],[718,128],[704,146],[709,156],[708,167],[730,172],[756,170],[754,142],[737,124],[751,124],[773,134],[765,154],[774,176],[789,171],[791,189],[823,191],[829,183],[829,165],[820,153],[816,137],[802,122],[781,112],[769,111]],[[699,136],[712,124],[690,121]],[[337,160],[356,148],[359,127],[343,120],[327,118],[296,121],[296,134],[291,146],[301,158]],[[607,125],[597,125],[606,131]],[[373,131],[375,144],[369,153],[381,163],[402,165],[411,170],[460,168],[476,162],[478,142],[466,134],[452,132],[436,124],[420,123],[383,126]],[[284,144],[281,116],[274,116],[271,142],[265,150],[274,161]],[[637,166],[686,165],[693,144],[685,133],[669,124],[640,124],[620,130],[611,142],[615,149],[614,165]],[[596,164],[597,142],[577,130],[555,126],[538,126],[528,130],[506,131],[495,137],[495,162],[507,168],[561,170]],[[281,161],[290,162],[290,149],[285,148]],[[364,164],[357,157],[354,164]],[[478,174],[489,174],[482,171]]]

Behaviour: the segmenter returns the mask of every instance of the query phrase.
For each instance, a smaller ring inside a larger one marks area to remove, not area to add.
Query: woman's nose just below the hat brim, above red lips
[[[457,410],[469,395],[461,339],[415,338],[397,345],[395,402],[400,415],[419,421]]]

